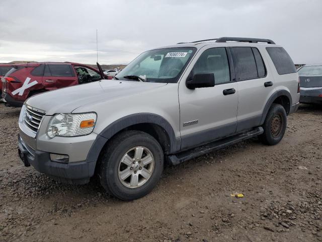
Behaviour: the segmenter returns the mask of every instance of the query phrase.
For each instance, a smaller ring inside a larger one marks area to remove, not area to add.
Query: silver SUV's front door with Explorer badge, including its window
[[[215,86],[188,89],[186,77],[181,80],[182,150],[232,135],[237,127],[238,86],[230,77],[225,47],[200,50],[194,61],[195,64],[190,65],[191,70],[187,70],[190,78],[197,73],[214,73]]]

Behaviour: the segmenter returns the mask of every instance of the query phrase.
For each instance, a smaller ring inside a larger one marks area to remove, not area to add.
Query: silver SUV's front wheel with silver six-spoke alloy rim
[[[164,168],[164,153],[149,134],[126,131],[108,143],[99,162],[103,188],[116,198],[131,201],[145,196],[156,186]],[[144,165],[147,162],[150,163]]]

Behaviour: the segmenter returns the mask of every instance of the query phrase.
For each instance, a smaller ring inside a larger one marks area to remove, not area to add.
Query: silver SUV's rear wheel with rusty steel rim
[[[284,107],[273,103],[263,125],[264,133],[260,135],[259,140],[266,145],[278,144],[285,133],[287,116]]]

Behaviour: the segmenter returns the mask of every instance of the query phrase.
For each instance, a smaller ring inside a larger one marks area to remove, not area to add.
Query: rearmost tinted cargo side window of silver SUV
[[[295,73],[296,68],[291,57],[282,47],[266,47],[279,75]]]

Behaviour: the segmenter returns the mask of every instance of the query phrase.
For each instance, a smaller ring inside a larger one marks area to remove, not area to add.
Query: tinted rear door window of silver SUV
[[[236,81],[258,78],[255,57],[251,47],[232,47]]]

